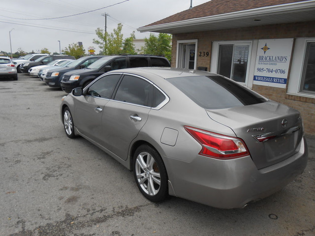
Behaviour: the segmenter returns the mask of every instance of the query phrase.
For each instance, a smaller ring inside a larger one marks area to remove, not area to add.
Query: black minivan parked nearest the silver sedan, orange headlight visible
[[[64,73],[61,81],[63,91],[70,93],[72,89],[85,87],[95,78],[110,70],[133,68],[133,67],[170,67],[168,59],[158,56],[144,55],[119,55],[104,56],[85,69]]]

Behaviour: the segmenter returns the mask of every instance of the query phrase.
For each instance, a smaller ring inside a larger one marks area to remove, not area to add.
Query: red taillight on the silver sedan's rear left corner
[[[184,127],[201,144],[200,155],[216,159],[233,159],[250,155],[244,141],[241,139],[189,126]]]

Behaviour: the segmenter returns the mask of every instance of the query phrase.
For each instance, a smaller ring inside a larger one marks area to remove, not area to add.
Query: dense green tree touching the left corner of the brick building
[[[151,54],[156,56],[166,57],[171,60],[172,54],[172,36],[167,33],[159,33],[158,36],[153,33],[149,38],[145,38],[145,45],[142,47],[144,54]]]

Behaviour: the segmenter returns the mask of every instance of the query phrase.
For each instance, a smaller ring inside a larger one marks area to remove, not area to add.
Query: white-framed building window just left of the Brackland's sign
[[[236,82],[245,83],[247,78],[249,44],[221,44],[217,73]]]

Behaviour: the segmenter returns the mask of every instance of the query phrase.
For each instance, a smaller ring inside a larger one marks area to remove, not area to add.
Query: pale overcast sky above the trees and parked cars
[[[192,0],[192,6],[207,1]],[[109,15],[108,32],[122,23],[124,38],[135,31],[136,38],[142,39],[150,33],[140,33],[137,28],[187,10],[190,0],[1,0],[0,6],[0,51],[11,51],[11,34],[12,53],[18,48],[36,53],[48,48],[51,53],[59,53],[58,41],[62,50],[69,44],[82,42],[86,51],[95,47],[98,53],[93,39],[97,38],[95,29],[105,27],[102,14]],[[84,13],[88,11],[91,12]],[[65,17],[70,15],[75,16]]]

